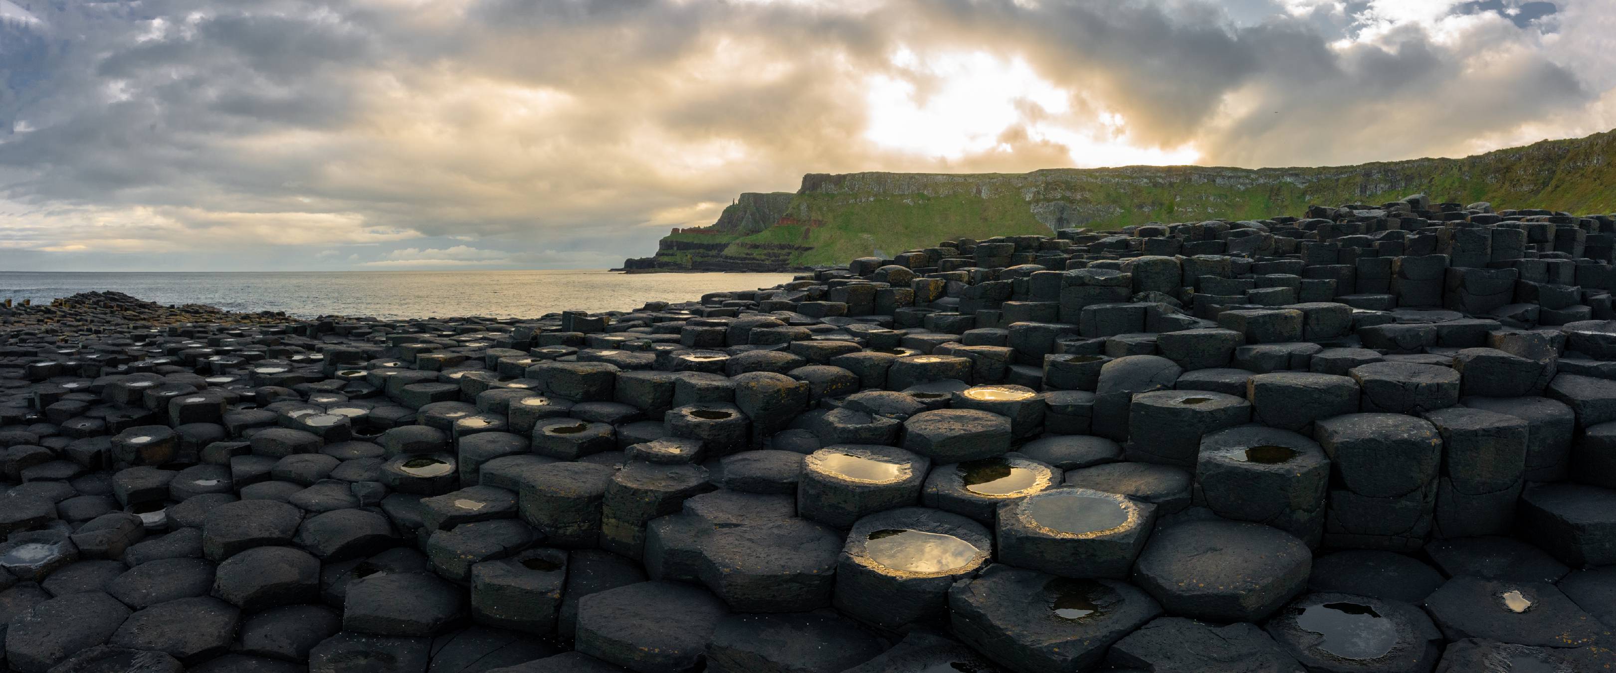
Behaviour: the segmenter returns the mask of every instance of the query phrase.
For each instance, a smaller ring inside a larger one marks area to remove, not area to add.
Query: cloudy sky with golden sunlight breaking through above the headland
[[[1611,0],[0,0],[0,270],[608,268],[805,173],[1611,127]]]

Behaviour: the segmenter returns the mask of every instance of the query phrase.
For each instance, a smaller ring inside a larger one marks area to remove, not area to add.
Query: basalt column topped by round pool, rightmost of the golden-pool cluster
[[[1058,487],[999,508],[999,560],[1068,578],[1125,578],[1144,549],[1155,505]]]

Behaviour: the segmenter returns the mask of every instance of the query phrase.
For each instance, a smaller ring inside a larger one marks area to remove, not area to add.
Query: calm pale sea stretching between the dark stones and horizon
[[[402,318],[538,318],[562,310],[627,311],[646,302],[693,302],[708,292],[755,291],[789,273],[569,271],[0,271],[0,300],[50,303],[76,292],[118,291],[157,303],[231,311]]]

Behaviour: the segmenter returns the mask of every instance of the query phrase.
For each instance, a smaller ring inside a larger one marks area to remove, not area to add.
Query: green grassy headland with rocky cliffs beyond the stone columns
[[[1616,131],[1466,158],[1327,168],[1125,166],[1033,173],[803,176],[795,194],[742,194],[706,228],[675,229],[630,271],[785,271],[953,237],[1301,215],[1409,194],[1496,208],[1616,210]]]

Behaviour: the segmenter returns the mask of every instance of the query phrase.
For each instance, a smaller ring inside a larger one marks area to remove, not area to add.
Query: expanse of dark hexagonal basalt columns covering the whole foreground
[[[3,307],[3,665],[1611,667],[1616,219],[1302,215],[604,315]]]

